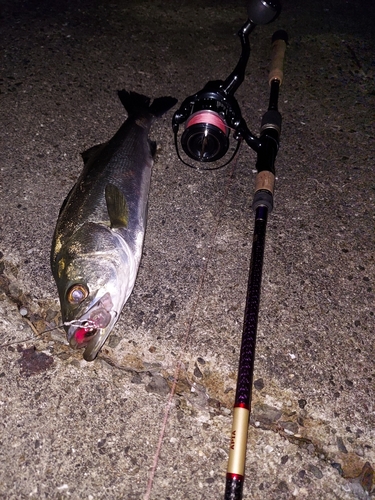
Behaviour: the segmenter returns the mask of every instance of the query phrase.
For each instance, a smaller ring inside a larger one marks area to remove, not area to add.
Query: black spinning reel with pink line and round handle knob
[[[187,97],[172,119],[175,147],[178,158],[187,166],[199,170],[216,170],[232,161],[238,151],[240,139],[255,151],[259,147],[259,139],[254,137],[242,118],[241,110],[234,93],[244,81],[246,65],[250,56],[249,34],[257,24],[272,22],[279,15],[281,5],[279,0],[250,0],[248,2],[248,20],[238,32],[242,51],[240,59],[233,72],[224,81],[208,82],[202,90]],[[198,166],[188,163],[182,158],[179,150],[179,126],[185,123],[185,130],[181,134],[182,150],[187,157]],[[237,141],[234,152],[228,158],[230,147],[230,131]],[[217,166],[217,162],[219,166]],[[215,166],[202,166],[216,162]]]

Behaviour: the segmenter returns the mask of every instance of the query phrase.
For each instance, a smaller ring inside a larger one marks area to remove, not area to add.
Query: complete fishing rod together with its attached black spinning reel
[[[279,0],[248,0],[248,20],[238,32],[242,52],[236,67],[226,80],[210,81],[202,90],[187,97],[172,119],[177,156],[189,167],[202,170],[224,167],[234,158],[241,139],[244,139],[257,153],[257,176],[252,205],[255,212],[255,224],[224,500],[242,499],[245,478],[267,217],[273,209],[275,159],[281,132],[278,97],[283,80],[283,61],[288,41],[285,31],[276,31],[272,37],[272,57],[268,79],[269,105],[261,121],[259,138],[248,129],[234,93],[245,77],[250,56],[249,34],[256,25],[272,22],[278,17],[280,11]],[[179,126],[184,122],[185,130],[179,137]],[[232,152],[229,152],[230,130],[234,131],[233,139],[237,141],[237,146],[232,146]],[[182,151],[179,148],[179,142]],[[191,160],[195,163],[192,164]],[[213,166],[207,166],[207,164],[213,164]]]

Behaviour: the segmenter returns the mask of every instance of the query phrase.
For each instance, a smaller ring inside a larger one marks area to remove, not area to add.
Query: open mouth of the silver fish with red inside
[[[111,295],[106,293],[83,316],[71,322],[69,344],[73,349],[85,348],[83,358],[86,361],[96,358],[116,323],[117,313],[112,307]]]

